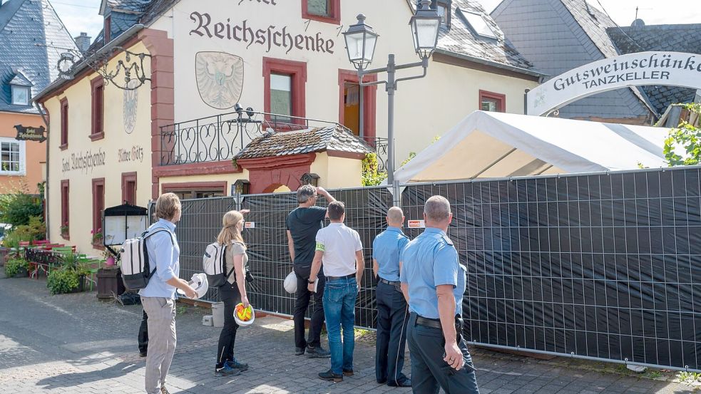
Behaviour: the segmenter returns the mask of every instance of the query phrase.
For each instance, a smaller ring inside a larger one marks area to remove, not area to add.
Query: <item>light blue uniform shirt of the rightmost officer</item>
[[[459,294],[455,313],[462,314],[465,269],[461,268],[458,252],[443,230],[427,228],[406,245],[400,261],[399,280],[409,284],[409,311],[425,318],[439,318],[436,286],[449,284],[454,294]]]

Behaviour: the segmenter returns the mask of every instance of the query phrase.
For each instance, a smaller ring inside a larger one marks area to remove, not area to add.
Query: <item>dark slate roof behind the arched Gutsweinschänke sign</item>
[[[618,53],[675,51],[701,55],[701,24],[623,26],[606,29]],[[643,86],[657,113],[664,113],[670,104],[689,103],[696,90],[675,86]]]

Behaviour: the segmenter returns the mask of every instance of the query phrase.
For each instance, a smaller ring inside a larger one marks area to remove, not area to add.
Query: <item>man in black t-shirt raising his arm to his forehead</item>
[[[322,297],[324,296],[324,271],[319,271],[319,285],[317,292],[312,293],[307,289],[309,274],[314,259],[317,231],[322,227],[322,221],[327,217],[326,208],[316,207],[319,195],[324,196],[328,202],[336,199],[322,187],[302,185],[297,189],[297,202],[300,206],[287,215],[287,247],[290,249],[290,259],[297,275],[297,304],[295,306],[295,354],[301,356],[305,351],[309,357],[328,358],[329,351],[321,346],[319,336],[324,323],[324,308]],[[309,299],[314,296],[312,304],[312,321],[309,324],[309,341],[305,340],[305,314],[309,306]]]

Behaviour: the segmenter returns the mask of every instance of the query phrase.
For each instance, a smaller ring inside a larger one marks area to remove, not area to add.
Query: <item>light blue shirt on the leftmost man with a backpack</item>
[[[170,286],[165,281],[180,276],[180,247],[178,247],[178,240],[175,239],[175,224],[165,219],[158,219],[158,222],[148,228],[148,232],[163,228],[168,229],[170,233],[162,231],[146,239],[148,264],[151,271],[154,268],[156,271],[148,281],[148,285],[139,290],[139,295],[174,299],[175,286]]]

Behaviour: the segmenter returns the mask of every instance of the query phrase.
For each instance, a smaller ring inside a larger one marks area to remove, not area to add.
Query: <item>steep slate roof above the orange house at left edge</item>
[[[75,41],[48,0],[9,0],[0,6],[0,43],[0,111],[38,113],[12,105],[10,82],[30,83],[34,97],[58,78],[58,58],[77,51]]]

